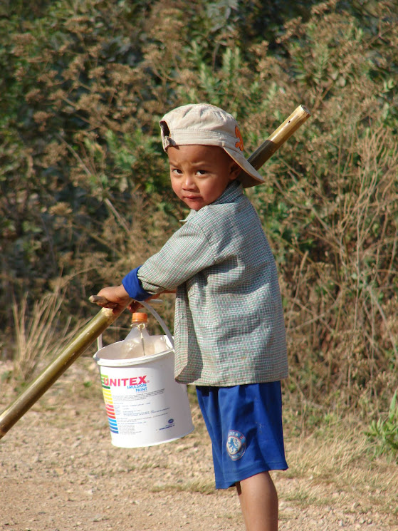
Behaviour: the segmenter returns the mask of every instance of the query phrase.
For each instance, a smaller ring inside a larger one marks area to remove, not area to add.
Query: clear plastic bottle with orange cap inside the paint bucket
[[[131,331],[123,341],[123,358],[150,356],[167,350],[167,342],[164,336],[151,336],[148,333],[147,319],[147,314],[143,312],[132,314]]]

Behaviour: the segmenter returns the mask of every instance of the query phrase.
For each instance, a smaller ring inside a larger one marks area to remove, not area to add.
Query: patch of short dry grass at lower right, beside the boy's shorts
[[[289,431],[289,429],[288,429]],[[398,468],[375,458],[365,426],[354,418],[323,426],[309,435],[287,437],[289,478],[298,488],[286,499],[300,505],[357,507],[398,516]]]

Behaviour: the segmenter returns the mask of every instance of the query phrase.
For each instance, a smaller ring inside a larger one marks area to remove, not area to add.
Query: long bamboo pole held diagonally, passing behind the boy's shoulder
[[[248,158],[253,167],[258,170],[283,143],[295,133],[310,117],[310,112],[303,105],[299,105],[293,113],[276,129],[271,136]],[[90,297],[95,302],[96,297]],[[38,401],[66,369],[78,359],[80,354],[92,344],[95,339],[112,324],[120,314],[113,313],[110,308],[103,308],[80,331],[77,337],[63,349],[56,358],[29,386],[16,398],[14,403],[0,415],[0,439],[19,421],[33,404]]]

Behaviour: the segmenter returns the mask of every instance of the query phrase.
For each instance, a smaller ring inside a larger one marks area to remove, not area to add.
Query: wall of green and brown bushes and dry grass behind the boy
[[[179,227],[167,110],[221,106],[249,154],[303,103],[312,118],[247,192],[281,279],[287,421],[353,415],[396,458],[397,19],[394,0],[3,1],[4,381],[19,391],[95,314],[89,295]]]

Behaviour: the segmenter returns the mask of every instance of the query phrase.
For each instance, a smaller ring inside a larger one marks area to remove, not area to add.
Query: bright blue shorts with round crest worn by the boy
[[[216,488],[267,470],[286,470],[281,382],[197,386],[211,438]]]

